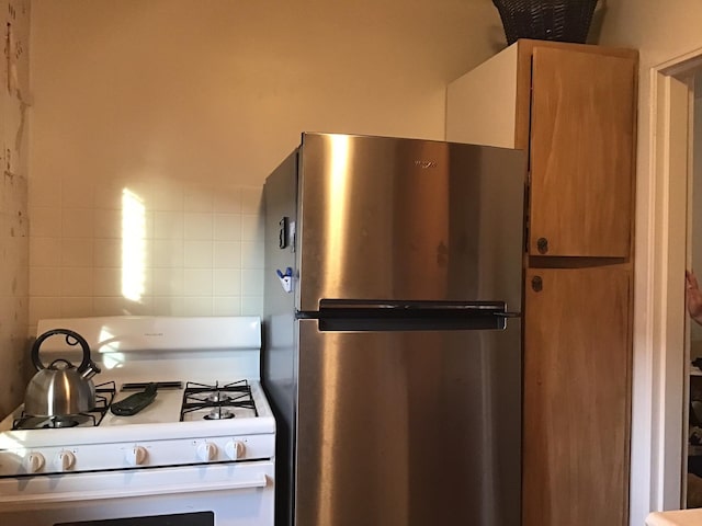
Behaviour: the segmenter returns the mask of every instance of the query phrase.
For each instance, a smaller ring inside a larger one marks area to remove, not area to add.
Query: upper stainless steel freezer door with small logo
[[[305,134],[298,309],[327,299],[521,305],[522,151]]]

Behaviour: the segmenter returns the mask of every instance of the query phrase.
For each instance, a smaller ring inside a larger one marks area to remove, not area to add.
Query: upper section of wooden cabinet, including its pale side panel
[[[637,54],[519,41],[448,89],[446,138],[529,149],[529,253],[627,258]]]

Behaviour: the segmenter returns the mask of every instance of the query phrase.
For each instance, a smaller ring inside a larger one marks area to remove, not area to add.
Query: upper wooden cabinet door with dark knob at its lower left
[[[534,47],[532,255],[629,255],[635,65],[634,58]]]

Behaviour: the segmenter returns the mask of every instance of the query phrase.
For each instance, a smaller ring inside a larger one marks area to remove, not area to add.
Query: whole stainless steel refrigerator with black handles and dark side
[[[267,179],[279,526],[518,526],[525,153],[303,134]]]

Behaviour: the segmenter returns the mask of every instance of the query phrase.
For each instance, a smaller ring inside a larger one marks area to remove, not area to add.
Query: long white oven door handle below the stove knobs
[[[156,485],[151,488],[135,489],[111,489],[111,490],[88,490],[88,491],[64,491],[53,493],[39,493],[31,495],[0,495],[0,503],[20,504],[48,504],[65,501],[100,501],[113,499],[127,499],[133,496],[151,496],[174,493],[202,493],[208,491],[228,491],[265,488],[269,483],[268,476],[260,473],[249,480],[229,480],[225,482],[203,482],[193,487],[192,484],[170,484]]]

